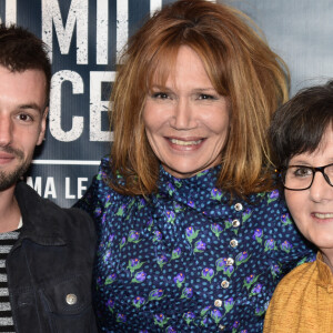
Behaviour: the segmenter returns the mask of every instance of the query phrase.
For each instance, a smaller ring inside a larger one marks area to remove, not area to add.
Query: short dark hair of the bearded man
[[[0,24],[0,65],[12,72],[41,70],[46,74],[46,102],[49,102],[51,63],[41,39],[21,27]]]

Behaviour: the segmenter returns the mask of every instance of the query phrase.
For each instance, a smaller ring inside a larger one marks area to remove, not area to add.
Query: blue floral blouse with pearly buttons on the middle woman
[[[77,204],[94,218],[93,299],[101,332],[262,332],[278,282],[314,259],[279,191],[249,202],[215,188],[219,168],[158,194],[108,186],[109,160]]]

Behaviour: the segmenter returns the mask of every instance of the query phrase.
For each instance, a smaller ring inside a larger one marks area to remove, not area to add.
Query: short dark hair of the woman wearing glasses
[[[330,124],[333,80],[301,90],[273,115],[269,137],[274,165],[285,168],[294,155],[314,152]]]

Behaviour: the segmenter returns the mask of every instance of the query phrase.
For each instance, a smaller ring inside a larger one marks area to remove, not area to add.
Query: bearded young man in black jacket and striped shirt
[[[94,226],[20,176],[42,143],[51,68],[41,40],[0,26],[0,331],[97,332]]]

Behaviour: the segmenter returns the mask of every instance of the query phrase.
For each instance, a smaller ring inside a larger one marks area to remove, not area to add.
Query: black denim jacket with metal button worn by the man
[[[24,182],[16,189],[23,226],[6,262],[17,333],[97,332],[91,305],[93,222],[60,209]]]

